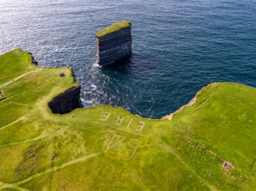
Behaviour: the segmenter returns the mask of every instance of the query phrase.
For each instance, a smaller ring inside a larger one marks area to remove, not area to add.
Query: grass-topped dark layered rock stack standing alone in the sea
[[[131,54],[131,23],[117,22],[96,33],[99,65],[109,65]]]

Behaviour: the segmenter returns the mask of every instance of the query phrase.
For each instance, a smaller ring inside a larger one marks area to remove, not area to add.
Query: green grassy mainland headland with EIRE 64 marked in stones
[[[16,49],[0,71],[0,190],[256,188],[253,87],[212,83],[171,121],[111,106],[60,115],[48,103],[79,85],[71,69],[37,67]]]

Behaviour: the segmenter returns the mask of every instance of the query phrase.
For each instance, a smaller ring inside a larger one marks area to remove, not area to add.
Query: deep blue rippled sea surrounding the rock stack
[[[94,34],[123,20],[129,61],[98,67]],[[41,67],[73,67],[86,107],[160,118],[214,81],[256,87],[256,1],[0,0],[0,54],[14,48]]]

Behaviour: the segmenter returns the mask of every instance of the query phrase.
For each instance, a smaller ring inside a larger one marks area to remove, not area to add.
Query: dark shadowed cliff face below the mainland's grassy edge
[[[64,93],[57,95],[51,102],[49,102],[49,108],[54,114],[66,114],[75,110],[76,108],[82,108],[80,101],[80,89],[81,87],[71,87]]]

